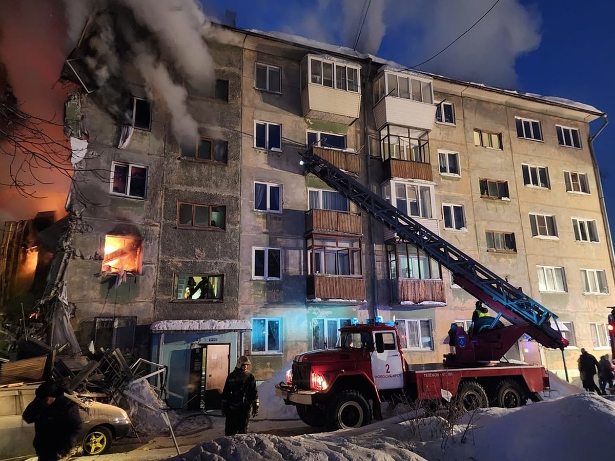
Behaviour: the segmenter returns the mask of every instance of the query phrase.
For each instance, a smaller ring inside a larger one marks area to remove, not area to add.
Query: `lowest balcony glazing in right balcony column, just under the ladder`
[[[429,258],[423,250],[419,250],[415,245],[410,243],[387,245],[386,251],[391,280],[394,278],[442,279],[440,264]]]

